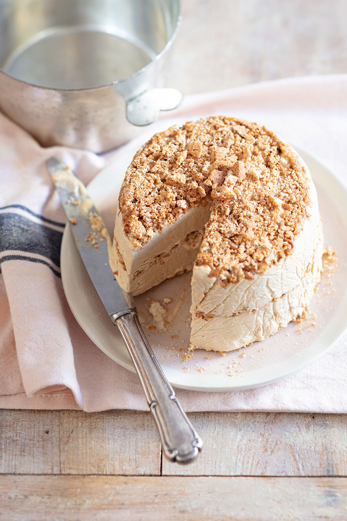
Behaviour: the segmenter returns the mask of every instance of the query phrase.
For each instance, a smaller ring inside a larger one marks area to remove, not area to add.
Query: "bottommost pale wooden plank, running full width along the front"
[[[347,518],[347,478],[2,476],[11,521]]]

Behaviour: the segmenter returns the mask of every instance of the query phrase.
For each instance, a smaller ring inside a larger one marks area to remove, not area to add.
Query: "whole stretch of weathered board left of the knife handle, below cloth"
[[[0,410],[0,473],[159,475],[149,413]]]

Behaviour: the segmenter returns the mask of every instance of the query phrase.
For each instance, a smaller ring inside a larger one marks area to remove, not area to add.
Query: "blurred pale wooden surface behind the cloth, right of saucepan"
[[[182,0],[167,84],[184,94],[347,72],[346,0]]]

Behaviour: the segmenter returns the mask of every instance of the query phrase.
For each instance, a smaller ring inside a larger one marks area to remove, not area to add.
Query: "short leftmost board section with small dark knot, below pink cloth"
[[[59,472],[59,411],[0,410],[0,473]]]

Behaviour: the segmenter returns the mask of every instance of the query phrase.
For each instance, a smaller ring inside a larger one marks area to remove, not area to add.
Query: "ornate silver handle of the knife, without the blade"
[[[151,350],[136,310],[121,316],[113,315],[112,320],[122,334],[144,388],[164,455],[172,462],[186,464],[194,461],[200,452],[202,440],[188,420]]]

